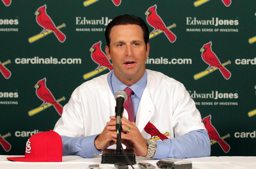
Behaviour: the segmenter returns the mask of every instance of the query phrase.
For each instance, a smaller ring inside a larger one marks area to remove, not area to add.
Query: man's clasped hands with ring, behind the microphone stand
[[[128,127],[130,127],[130,131],[127,133],[126,131]],[[141,156],[147,154],[147,145],[141,132],[138,127],[135,126],[135,122],[130,122],[125,117],[122,118],[121,141],[128,149],[133,149],[135,153],[138,153]],[[115,116],[110,116],[110,121],[107,122],[102,133],[94,140],[94,144],[98,150],[103,150],[116,144],[116,142]]]

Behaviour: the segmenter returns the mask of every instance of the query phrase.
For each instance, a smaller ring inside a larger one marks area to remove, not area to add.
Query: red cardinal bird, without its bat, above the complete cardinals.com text
[[[64,42],[66,40],[66,36],[60,30],[56,29],[54,22],[51,20],[49,15],[47,15],[46,5],[39,7],[35,12],[35,15],[37,15],[36,22],[43,28],[41,33],[52,30],[60,42]]]

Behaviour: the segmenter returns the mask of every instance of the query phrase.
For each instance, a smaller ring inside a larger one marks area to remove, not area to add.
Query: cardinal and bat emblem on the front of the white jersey
[[[151,135],[151,140],[164,140],[169,139],[167,136],[169,136],[169,133],[166,132],[165,134],[160,133],[160,131],[150,122],[147,123],[147,125],[144,127],[144,130]]]

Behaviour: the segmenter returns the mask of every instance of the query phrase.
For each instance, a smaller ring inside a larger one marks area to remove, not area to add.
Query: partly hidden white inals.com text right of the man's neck
[[[172,59],[168,59],[168,58],[147,58],[146,60],[146,64],[178,64],[178,65],[191,65],[192,64],[192,59],[187,59],[187,58],[172,58]]]

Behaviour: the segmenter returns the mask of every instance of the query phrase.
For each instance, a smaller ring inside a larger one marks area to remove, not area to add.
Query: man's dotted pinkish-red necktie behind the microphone
[[[133,93],[133,91],[130,88],[125,88],[125,92],[127,93],[128,98],[125,101],[124,108],[127,110],[128,117],[129,117],[128,120],[130,122],[135,122],[133,102],[132,102],[132,99],[131,99],[131,94]]]

